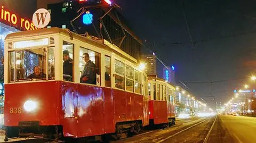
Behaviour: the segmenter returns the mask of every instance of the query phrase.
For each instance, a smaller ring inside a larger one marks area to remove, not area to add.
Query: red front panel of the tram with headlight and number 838
[[[4,88],[6,95],[12,95],[6,96],[4,101],[5,126],[17,127],[22,121],[39,121],[41,125],[60,124],[60,81],[10,84]],[[28,113],[23,110],[23,104],[31,99],[39,102],[37,112]],[[19,108],[22,109],[21,113],[18,111]]]

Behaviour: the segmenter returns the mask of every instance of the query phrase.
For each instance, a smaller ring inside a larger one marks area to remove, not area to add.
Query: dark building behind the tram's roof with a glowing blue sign
[[[47,9],[51,13],[48,28],[67,28],[94,40],[106,39],[140,60],[142,41],[126,25],[118,6],[98,0],[62,1],[47,5]]]

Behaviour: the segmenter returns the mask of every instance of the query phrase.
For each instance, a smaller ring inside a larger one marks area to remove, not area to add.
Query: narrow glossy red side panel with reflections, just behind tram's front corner
[[[77,91],[76,85],[72,83],[63,82],[62,110],[64,136],[77,137]]]

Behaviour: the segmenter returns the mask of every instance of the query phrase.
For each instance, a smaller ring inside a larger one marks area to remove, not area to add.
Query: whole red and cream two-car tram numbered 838
[[[63,51],[70,58],[72,75],[63,74]],[[81,83],[84,53],[95,64],[95,84]],[[163,91],[157,87],[156,98],[152,89],[148,96],[147,75],[138,61],[106,40],[60,28],[22,31],[7,35],[4,56],[5,140],[103,134],[120,138],[125,131],[138,132],[149,125],[149,118],[158,124],[175,117],[173,98],[167,92],[172,87],[157,79],[150,81],[151,88],[161,82]],[[29,78],[36,73],[40,76]]]

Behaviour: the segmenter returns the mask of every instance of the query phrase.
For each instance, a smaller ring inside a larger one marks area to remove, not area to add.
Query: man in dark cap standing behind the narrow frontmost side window
[[[67,50],[63,51],[63,79],[73,81],[73,60],[69,57]]]

